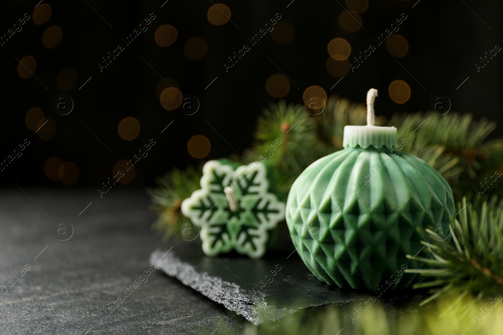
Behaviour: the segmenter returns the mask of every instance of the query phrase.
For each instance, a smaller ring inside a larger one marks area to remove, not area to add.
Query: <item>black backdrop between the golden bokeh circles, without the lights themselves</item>
[[[160,8],[164,1],[43,2],[51,5],[52,15],[42,25],[35,25],[32,18],[37,0],[3,3],[0,34],[7,33],[25,13],[31,18],[22,31],[0,46],[0,160],[6,159],[25,138],[31,144],[22,157],[0,172],[2,185],[17,187],[17,182],[21,186],[98,188],[112,176],[112,167],[118,160],[131,159],[151,138],[156,145],[136,164],[135,179],[129,186],[142,187],[140,181],[153,185],[155,176],[174,166],[197,164],[198,160],[187,151],[187,141],[197,134],[211,142],[205,160],[227,156],[234,152],[232,148],[241,153],[251,145],[262,109],[279,100],[271,97],[265,86],[271,75],[281,73],[274,64],[291,79],[290,91],[284,97],[287,102],[302,103],[302,93],[311,85],[323,87],[327,95],[364,102],[367,90],[374,87],[380,91],[376,113],[390,117],[405,111],[425,111],[434,95],[445,94],[452,103],[451,110],[501,124],[503,55],[498,53],[478,73],[475,67],[486,51],[496,44],[503,45],[503,5],[498,1],[370,0],[367,11],[360,14],[364,28],[356,33],[346,32],[339,25],[338,17],[347,9],[344,0],[226,0],[224,4],[230,8],[234,24],[229,21],[223,26],[208,22],[207,11],[213,5],[210,0],[169,0]],[[121,39],[150,13],[156,18],[148,31],[126,46],[100,73],[98,63],[102,57],[115,50],[117,44],[123,44]],[[267,33],[225,72],[223,63],[227,57],[249,44],[247,39],[276,13],[282,16],[281,21],[293,26],[294,39],[278,44]],[[409,50],[405,57],[397,59],[401,65],[382,45],[355,72],[350,71],[330,89],[339,78],[331,76],[325,67],[328,42],[336,37],[348,40],[352,58],[369,44],[375,44],[373,39],[402,13],[407,19],[398,33],[407,39]],[[154,41],[155,30],[164,24],[178,30],[176,42],[169,47],[159,47]],[[59,45],[52,49],[42,44],[42,34],[50,26],[60,27],[63,34]],[[208,46],[205,56],[196,61],[187,59],[183,51],[185,42],[193,37],[202,38]],[[27,55],[37,61],[34,74],[38,80],[33,76],[22,79],[18,74],[18,59]],[[75,70],[77,82],[73,89],[61,92],[56,77],[65,68]],[[195,115],[162,108],[155,92],[159,75],[177,80],[183,94],[197,96],[200,108]],[[79,89],[89,77],[92,79]],[[205,89],[215,77],[218,78]],[[406,81],[411,89],[411,97],[404,104],[393,102],[387,92],[389,83],[396,79]],[[74,101],[72,112],[66,116],[56,114],[52,108],[54,97],[61,93]],[[52,139],[44,141],[27,128],[25,116],[32,107],[40,107],[45,116],[54,119],[57,129]],[[133,141],[121,139],[117,131],[119,122],[129,116],[141,125],[140,134]],[[496,130],[493,135],[500,134]],[[78,166],[80,176],[74,186],[64,186],[45,176],[43,165],[49,156]]]

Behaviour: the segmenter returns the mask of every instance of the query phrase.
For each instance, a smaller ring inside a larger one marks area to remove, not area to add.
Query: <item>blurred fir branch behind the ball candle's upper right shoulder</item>
[[[499,165],[503,160],[503,141],[484,143],[496,128],[494,122],[474,121],[470,114],[437,115],[430,111],[425,115],[396,115],[388,126],[397,128],[398,143],[406,141],[402,151],[423,159],[442,174],[457,201],[463,196],[472,201],[477,194],[474,185],[499,168],[503,171]],[[500,189],[493,187],[483,199]]]

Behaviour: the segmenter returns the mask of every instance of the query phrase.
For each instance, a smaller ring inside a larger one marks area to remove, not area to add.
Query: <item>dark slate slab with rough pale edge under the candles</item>
[[[154,251],[150,263],[256,325],[299,309],[365,302],[370,296],[379,299],[386,312],[396,314],[417,310],[417,303],[426,296],[424,291],[410,289],[375,292],[330,287],[309,272],[292,253],[291,244],[280,241],[279,246],[260,260],[236,255],[207,257],[200,247],[175,246]],[[289,247],[288,253],[281,246]]]

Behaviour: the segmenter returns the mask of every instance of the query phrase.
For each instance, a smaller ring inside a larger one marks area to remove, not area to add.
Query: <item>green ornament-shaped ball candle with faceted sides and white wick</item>
[[[455,206],[440,173],[396,149],[395,127],[374,126],[376,96],[370,89],[367,126],[344,128],[345,149],[295,180],[285,216],[298,254],[319,280],[382,292],[419,280],[403,272],[423,264],[405,257],[424,248],[416,228],[448,238]]]

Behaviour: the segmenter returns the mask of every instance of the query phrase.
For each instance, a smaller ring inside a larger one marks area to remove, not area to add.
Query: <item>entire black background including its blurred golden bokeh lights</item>
[[[271,102],[364,102],[371,87],[388,118],[442,94],[451,110],[503,121],[497,1],[2,6],[4,186],[98,189],[130,159],[120,182],[151,186],[172,167],[240,154]]]

